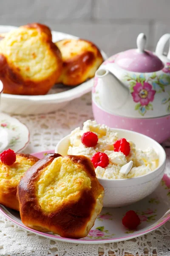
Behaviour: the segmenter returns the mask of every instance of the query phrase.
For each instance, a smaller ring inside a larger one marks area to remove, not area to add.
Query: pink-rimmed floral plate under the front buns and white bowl
[[[54,153],[54,151],[42,151],[33,155],[42,158],[48,153]],[[136,230],[128,230],[122,225],[122,218],[129,210],[134,210],[141,220]],[[119,208],[103,208],[88,236],[82,239],[68,239],[50,232],[42,233],[32,230],[22,223],[19,212],[2,205],[0,205],[0,212],[23,229],[53,240],[77,244],[124,241],[147,234],[170,220],[170,177],[165,174],[157,189],[150,196],[135,204]]]

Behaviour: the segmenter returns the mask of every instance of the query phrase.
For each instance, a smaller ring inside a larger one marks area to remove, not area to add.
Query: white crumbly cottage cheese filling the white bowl
[[[94,147],[87,147],[81,142],[82,135],[85,132],[91,131],[98,137],[98,143]],[[102,152],[108,155],[108,166],[102,168],[97,166],[95,169],[96,176],[100,179],[126,179],[139,177],[149,174],[154,171],[159,165],[159,156],[153,147],[148,147],[145,150],[136,148],[136,145],[130,143],[130,153],[125,156],[121,151],[114,151],[113,144],[119,140],[118,133],[113,128],[106,125],[99,125],[96,121],[88,120],[84,122],[82,130],[76,128],[70,135],[70,146],[68,154],[84,155],[86,157],[93,157],[96,152]],[[130,172],[125,175],[120,173],[120,169],[126,163],[133,161],[133,167]]]

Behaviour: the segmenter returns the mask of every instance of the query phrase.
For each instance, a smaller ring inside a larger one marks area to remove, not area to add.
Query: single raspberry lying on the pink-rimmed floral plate
[[[132,210],[126,212],[126,215],[122,218],[122,224],[130,230],[136,229],[140,222],[139,216]]]

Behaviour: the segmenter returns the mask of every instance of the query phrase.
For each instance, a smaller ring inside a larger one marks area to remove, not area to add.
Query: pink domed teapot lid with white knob
[[[146,35],[143,33],[137,37],[137,49],[130,49],[125,52],[121,52],[116,60],[115,64],[124,70],[150,73],[163,69],[163,62],[153,52],[145,50]]]

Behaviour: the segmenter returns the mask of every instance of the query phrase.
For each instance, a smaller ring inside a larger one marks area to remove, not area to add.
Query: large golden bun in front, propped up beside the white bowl
[[[23,224],[73,239],[88,235],[102,209],[103,194],[90,159],[60,154],[39,160],[17,188]]]

